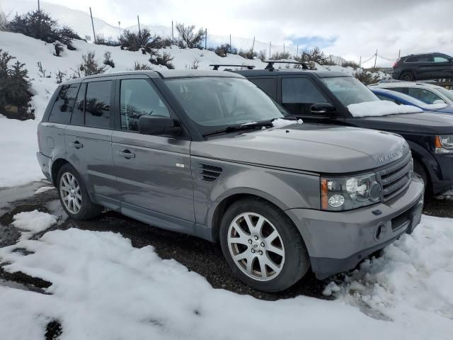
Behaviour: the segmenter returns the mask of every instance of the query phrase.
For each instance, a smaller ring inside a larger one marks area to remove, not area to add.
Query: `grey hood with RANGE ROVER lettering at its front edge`
[[[406,141],[390,132],[311,124],[229,133],[190,147],[193,156],[321,174],[376,169],[406,150]]]

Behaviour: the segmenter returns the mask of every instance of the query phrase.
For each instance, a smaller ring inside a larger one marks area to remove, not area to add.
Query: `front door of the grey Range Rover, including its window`
[[[138,133],[141,115],[176,118],[146,75],[118,77],[117,98],[119,112],[112,142],[122,213],[192,234],[190,139]]]

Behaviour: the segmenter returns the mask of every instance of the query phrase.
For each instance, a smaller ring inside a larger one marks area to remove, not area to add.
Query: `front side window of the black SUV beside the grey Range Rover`
[[[328,102],[326,97],[310,79],[302,77],[282,79],[282,103],[292,114],[310,114],[314,103],[326,102]]]

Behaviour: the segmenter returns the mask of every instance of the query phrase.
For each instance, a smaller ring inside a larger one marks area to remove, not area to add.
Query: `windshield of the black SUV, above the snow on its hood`
[[[332,77],[323,78],[322,81],[344,106],[366,101],[379,101],[379,98],[367,86],[355,78]]]

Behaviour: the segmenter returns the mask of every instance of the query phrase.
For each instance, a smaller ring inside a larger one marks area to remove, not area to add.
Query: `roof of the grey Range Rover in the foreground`
[[[150,78],[193,78],[193,77],[229,77],[229,78],[242,78],[239,74],[231,74],[229,72],[218,72],[212,70],[199,70],[199,69],[159,69],[158,71],[126,71],[126,72],[112,72],[104,74],[96,74],[88,77],[81,77],[64,81],[63,84],[76,84],[84,81],[85,79],[98,79],[98,78],[109,78],[117,76],[129,76],[144,74]]]

